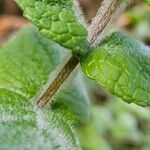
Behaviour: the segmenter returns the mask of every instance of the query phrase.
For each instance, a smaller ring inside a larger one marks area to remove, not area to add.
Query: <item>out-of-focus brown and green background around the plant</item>
[[[145,0],[148,1],[148,0]],[[135,2],[117,20],[117,26],[150,46],[150,6]],[[101,0],[80,0],[88,23]],[[14,0],[0,0],[0,44],[28,21]],[[150,150],[150,109],[126,104],[87,80],[91,120],[78,126],[83,150]]]

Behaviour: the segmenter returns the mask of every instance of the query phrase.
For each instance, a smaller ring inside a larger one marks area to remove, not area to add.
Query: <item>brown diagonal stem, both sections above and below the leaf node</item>
[[[107,3],[108,0],[104,0],[104,4]],[[116,7],[118,7],[120,0],[112,0],[111,3],[108,3],[107,9],[105,13],[102,14],[100,18],[97,18],[98,21],[94,22],[94,28],[89,32],[88,36],[88,45],[91,47],[92,43],[96,41],[100,33],[105,29],[107,24],[109,23],[111,15],[115,12]],[[92,24],[93,25],[93,24]],[[55,92],[59,89],[59,87],[63,84],[63,82],[68,78],[71,72],[76,68],[79,64],[79,58],[73,55],[68,62],[64,65],[64,67],[59,71],[56,78],[53,80],[45,92],[41,95],[41,97],[37,101],[37,107],[42,108],[46,105],[46,103],[52,98]]]

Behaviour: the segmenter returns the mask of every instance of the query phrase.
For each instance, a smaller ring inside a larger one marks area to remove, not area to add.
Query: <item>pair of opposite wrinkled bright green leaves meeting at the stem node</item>
[[[150,49],[113,33],[87,53],[87,30],[72,0],[16,0],[24,15],[49,39],[82,55],[85,74],[126,102],[150,105]],[[86,54],[86,55],[85,55]]]

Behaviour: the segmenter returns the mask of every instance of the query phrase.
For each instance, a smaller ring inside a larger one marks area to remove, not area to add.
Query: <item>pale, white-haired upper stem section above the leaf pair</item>
[[[96,17],[88,28],[89,46],[96,45],[110,34],[113,22],[127,5],[127,2],[120,2],[120,0],[104,0],[102,2]]]

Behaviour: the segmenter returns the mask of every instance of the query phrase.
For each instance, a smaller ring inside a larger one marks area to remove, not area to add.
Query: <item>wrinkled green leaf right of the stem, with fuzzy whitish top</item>
[[[150,106],[150,49],[113,33],[82,60],[85,74],[124,101]]]

